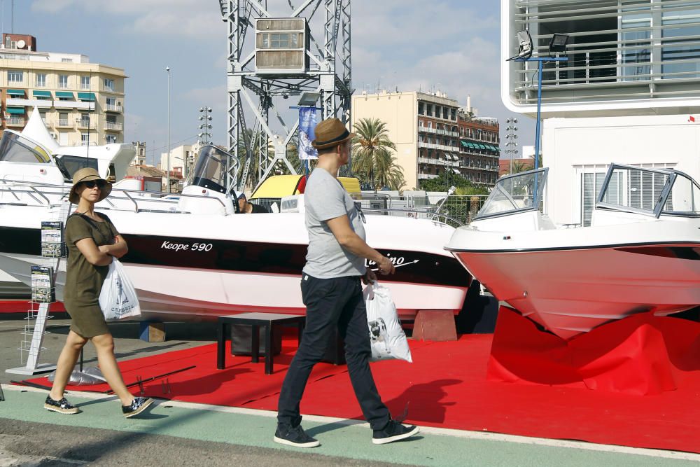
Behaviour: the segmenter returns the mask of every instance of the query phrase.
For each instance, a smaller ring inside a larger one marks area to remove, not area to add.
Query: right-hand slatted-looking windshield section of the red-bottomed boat
[[[700,188],[677,170],[612,165],[605,175],[597,207],[655,217],[700,216]]]

